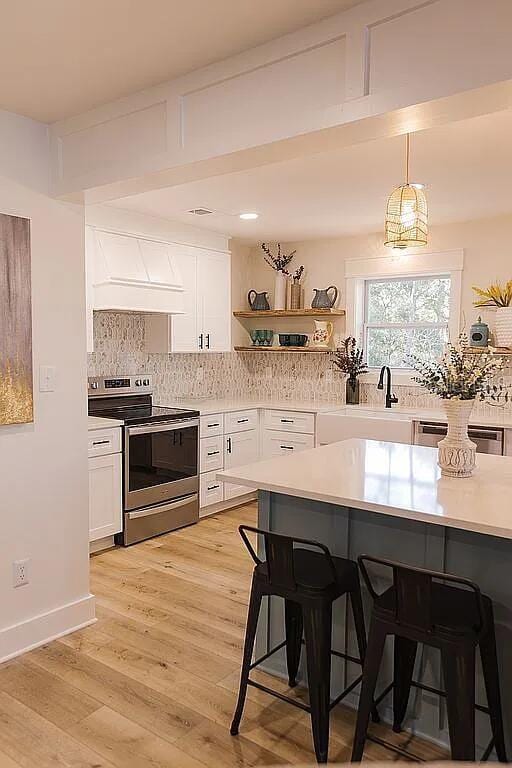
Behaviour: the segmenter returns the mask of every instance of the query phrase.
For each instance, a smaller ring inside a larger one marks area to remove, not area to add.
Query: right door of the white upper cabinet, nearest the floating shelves
[[[198,267],[199,332],[210,352],[231,349],[231,255],[201,250]]]

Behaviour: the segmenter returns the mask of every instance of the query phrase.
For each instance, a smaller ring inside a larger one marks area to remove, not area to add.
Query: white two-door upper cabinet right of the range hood
[[[231,255],[174,246],[183,280],[181,315],[146,319],[148,352],[228,352],[231,349]]]

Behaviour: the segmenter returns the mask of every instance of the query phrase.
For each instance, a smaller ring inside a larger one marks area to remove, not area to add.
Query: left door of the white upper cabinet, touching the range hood
[[[183,315],[171,317],[171,352],[198,352],[197,248],[172,245],[173,263],[183,282]]]

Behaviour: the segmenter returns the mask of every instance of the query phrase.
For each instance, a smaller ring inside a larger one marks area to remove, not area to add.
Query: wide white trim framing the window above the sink
[[[354,336],[359,345],[363,344],[364,323],[364,288],[366,280],[378,280],[385,277],[408,277],[417,275],[449,275],[450,319],[448,330],[450,339],[456,339],[460,330],[460,307],[462,289],[462,270],[464,267],[464,249],[424,253],[417,250],[401,253],[397,256],[381,256],[368,259],[347,259],[345,262],[346,296],[346,334]],[[393,380],[404,386],[418,386],[412,380],[412,371],[395,368]],[[378,371],[364,374],[361,381],[374,383],[378,380]]]

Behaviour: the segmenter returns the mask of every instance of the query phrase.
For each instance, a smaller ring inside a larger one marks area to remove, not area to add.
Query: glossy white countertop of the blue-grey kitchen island
[[[477,454],[473,477],[441,477],[437,449],[344,440],[217,473],[249,488],[512,539],[512,457]]]

